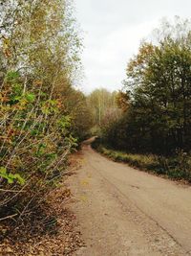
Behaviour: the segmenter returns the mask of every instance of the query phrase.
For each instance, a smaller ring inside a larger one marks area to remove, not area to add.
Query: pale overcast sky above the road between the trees
[[[191,17],[191,0],[74,0],[83,31],[84,79],[90,93],[104,87],[120,89],[128,60],[138,53],[143,38],[159,27],[163,17]]]

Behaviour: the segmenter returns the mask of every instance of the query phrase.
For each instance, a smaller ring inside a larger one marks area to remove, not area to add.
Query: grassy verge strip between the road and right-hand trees
[[[141,171],[191,183],[191,156],[184,152],[179,152],[177,155],[167,158],[154,154],[114,151],[97,142],[93,143],[92,146],[96,151],[114,161],[127,163]]]

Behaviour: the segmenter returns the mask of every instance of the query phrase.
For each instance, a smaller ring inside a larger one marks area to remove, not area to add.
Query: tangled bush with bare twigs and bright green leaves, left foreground
[[[43,86],[23,89],[8,72],[0,93],[0,221],[22,221],[41,206],[76,146],[71,118]]]

